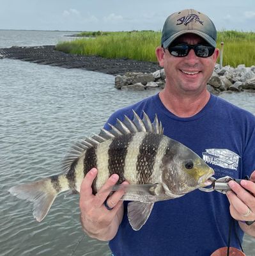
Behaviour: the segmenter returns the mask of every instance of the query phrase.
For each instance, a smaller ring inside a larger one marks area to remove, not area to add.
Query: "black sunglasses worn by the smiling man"
[[[215,51],[215,47],[203,44],[176,44],[169,46],[168,51],[171,55],[176,57],[185,57],[189,54],[190,49],[193,49],[197,57],[206,58],[212,56]]]

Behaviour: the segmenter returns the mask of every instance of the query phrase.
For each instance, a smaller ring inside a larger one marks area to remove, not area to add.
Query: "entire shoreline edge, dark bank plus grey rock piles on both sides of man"
[[[146,90],[164,88],[165,75],[158,63],[135,61],[127,58],[107,59],[100,56],[84,56],[56,51],[55,45],[33,47],[13,46],[0,49],[0,59],[29,61],[52,67],[79,68],[115,76],[115,88],[120,90]],[[213,94],[220,92],[255,92],[255,66],[215,65],[207,88]]]

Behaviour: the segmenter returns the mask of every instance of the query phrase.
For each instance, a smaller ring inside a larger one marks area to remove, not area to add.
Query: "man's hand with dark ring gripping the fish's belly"
[[[123,218],[123,201],[120,199],[125,192],[120,189],[109,196],[110,188],[119,179],[117,174],[113,174],[97,195],[93,195],[91,186],[95,177],[97,177],[97,169],[93,168],[86,174],[81,184],[81,224],[89,236],[109,241],[116,235]],[[128,184],[128,182],[123,182],[123,184]],[[105,200],[107,200],[107,205],[112,208],[111,211],[105,207]]]

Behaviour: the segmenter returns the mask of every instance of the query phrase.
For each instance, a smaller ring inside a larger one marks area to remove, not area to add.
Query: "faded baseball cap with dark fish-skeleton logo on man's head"
[[[199,35],[216,47],[217,31],[212,20],[194,9],[175,12],[167,17],[162,30],[162,47],[167,48],[178,36],[185,33]]]

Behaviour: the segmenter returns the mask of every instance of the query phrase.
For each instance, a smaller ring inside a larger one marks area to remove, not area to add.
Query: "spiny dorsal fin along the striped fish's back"
[[[68,155],[63,160],[63,163],[61,165],[61,169],[63,170],[63,172],[68,172],[73,161],[75,161],[77,157],[81,156],[81,154],[85,150],[91,147],[97,147],[98,144],[104,141],[135,132],[150,132],[156,134],[163,134],[163,127],[161,122],[158,122],[157,114],[155,115],[153,123],[144,111],[143,119],[141,119],[140,116],[137,115],[134,109],[133,114],[133,120],[130,120],[130,118],[128,118],[126,115],[124,116],[124,119],[122,121],[117,118],[115,125],[108,124],[110,127],[109,131],[106,129],[101,129],[99,134],[93,134],[92,137],[85,138],[84,140],[80,140],[79,142],[75,143],[71,147]]]

